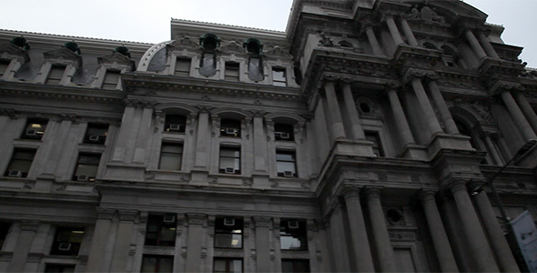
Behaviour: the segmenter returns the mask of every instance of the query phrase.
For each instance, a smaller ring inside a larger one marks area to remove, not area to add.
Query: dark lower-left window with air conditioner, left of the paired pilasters
[[[50,255],[76,256],[84,238],[83,227],[56,227]]]

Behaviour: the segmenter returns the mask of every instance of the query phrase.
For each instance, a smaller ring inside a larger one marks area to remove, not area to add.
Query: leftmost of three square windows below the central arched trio
[[[176,227],[175,214],[150,214],[147,217],[146,246],[174,247]]]

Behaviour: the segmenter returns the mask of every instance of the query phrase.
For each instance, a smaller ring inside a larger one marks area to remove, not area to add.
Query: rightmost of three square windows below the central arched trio
[[[279,222],[279,238],[281,249],[308,250],[306,221],[282,219]]]

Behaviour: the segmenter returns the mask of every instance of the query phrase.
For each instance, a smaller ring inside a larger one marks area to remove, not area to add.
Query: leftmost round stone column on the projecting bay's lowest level
[[[363,213],[360,205],[360,189],[351,189],[344,195],[347,216],[350,224],[350,238],[354,248],[353,263],[359,272],[373,272],[373,258],[370,252],[368,232],[366,230]]]

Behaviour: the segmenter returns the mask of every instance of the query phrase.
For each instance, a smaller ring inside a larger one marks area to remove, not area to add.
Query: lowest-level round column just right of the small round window
[[[457,262],[453,257],[450,241],[442,224],[442,219],[436,207],[434,193],[429,190],[420,193],[421,206],[427,218],[427,225],[432,238],[432,244],[442,272],[458,272]]]

